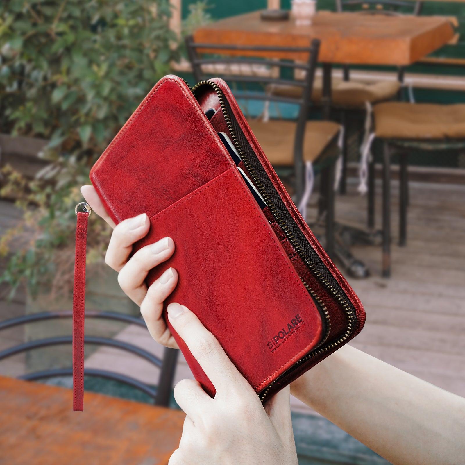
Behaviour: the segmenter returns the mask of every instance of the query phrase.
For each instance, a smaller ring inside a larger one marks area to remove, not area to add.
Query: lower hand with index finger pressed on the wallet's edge
[[[297,464],[289,386],[263,406],[193,312],[172,303],[168,319],[216,389],[212,399],[193,379],[183,379],[174,388],[174,398],[187,416],[169,465]]]

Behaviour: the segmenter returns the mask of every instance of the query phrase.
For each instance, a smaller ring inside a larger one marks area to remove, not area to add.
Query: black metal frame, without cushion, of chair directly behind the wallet
[[[261,85],[287,85],[297,86],[302,88],[302,94],[300,98],[292,97],[281,97],[278,95],[259,93],[259,92],[233,92],[236,99],[243,100],[263,100],[270,102],[285,102],[299,106],[299,114],[297,118],[296,132],[294,136],[294,147],[293,147],[293,174],[294,174],[294,186],[295,186],[295,198],[296,203],[303,193],[304,186],[304,163],[303,163],[303,146],[305,137],[306,122],[308,120],[310,106],[310,95],[312,93],[313,81],[315,76],[315,70],[317,67],[318,52],[319,52],[319,40],[312,40],[311,46],[308,47],[278,47],[278,46],[242,46],[242,45],[219,45],[219,44],[207,44],[207,43],[195,43],[192,36],[186,37],[186,47],[189,60],[192,65],[194,78],[197,81],[205,80],[206,75],[202,70],[203,65],[265,65],[279,68],[290,69],[301,69],[306,71],[305,78],[303,80],[285,79],[282,77],[263,77],[263,76],[250,76],[240,75],[233,73],[220,73],[221,78],[228,82],[233,83],[257,83]],[[221,56],[218,57],[201,57],[199,49],[204,50],[218,50]],[[228,54],[231,52],[231,55]],[[244,56],[237,55],[237,53],[244,52],[246,55],[251,56],[253,52],[269,52],[270,56],[272,53],[277,53],[279,56],[280,52],[295,52],[295,53],[308,53],[308,60],[306,63],[298,63],[295,61],[283,61],[274,59],[262,59],[262,58],[246,58]],[[225,57],[224,55],[228,55]],[[320,213],[322,208],[326,208],[326,244],[327,253],[332,256],[332,247],[334,243],[334,193],[332,191],[333,179],[334,179],[334,162],[328,162],[331,158],[331,151],[328,147],[331,146],[333,141],[326,146],[326,149],[317,159],[314,169],[315,172],[321,172],[322,179],[327,180],[325,188],[321,190],[322,199],[320,201]]]

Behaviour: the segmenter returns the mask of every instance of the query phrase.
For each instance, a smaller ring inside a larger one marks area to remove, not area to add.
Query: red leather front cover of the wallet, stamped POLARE
[[[173,266],[179,282],[166,305],[177,301],[196,313],[257,392],[318,344],[319,311],[182,80],[168,76],[153,88],[97,161],[91,180],[115,222],[143,212],[151,217],[134,251],[173,238],[173,257],[150,272],[147,284]],[[283,328],[286,337],[270,348]]]

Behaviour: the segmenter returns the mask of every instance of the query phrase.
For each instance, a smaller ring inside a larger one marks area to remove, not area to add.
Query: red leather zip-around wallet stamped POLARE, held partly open
[[[211,120],[205,112],[217,110]],[[218,133],[233,141],[234,163]],[[265,200],[261,209],[239,168]],[[176,250],[179,282],[166,305],[190,308],[262,401],[353,338],[363,307],[314,238],[223,80],[192,89],[166,76],[93,166],[90,179],[115,221],[146,213],[147,236]],[[166,317],[166,313],[165,313]],[[195,378],[215,388],[167,324]]]

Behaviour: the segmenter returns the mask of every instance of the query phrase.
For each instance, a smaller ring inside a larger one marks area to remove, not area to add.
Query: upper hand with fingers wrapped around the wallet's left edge
[[[173,255],[173,239],[165,237],[142,247],[129,259],[133,244],[148,233],[150,221],[147,215],[142,213],[115,225],[93,186],[82,186],[81,193],[92,210],[113,228],[105,262],[119,273],[121,289],[140,306],[140,313],[153,339],[167,347],[178,348],[162,317],[163,302],[176,287],[178,273],[174,268],[168,268],[148,289],[145,284],[147,273]]]

